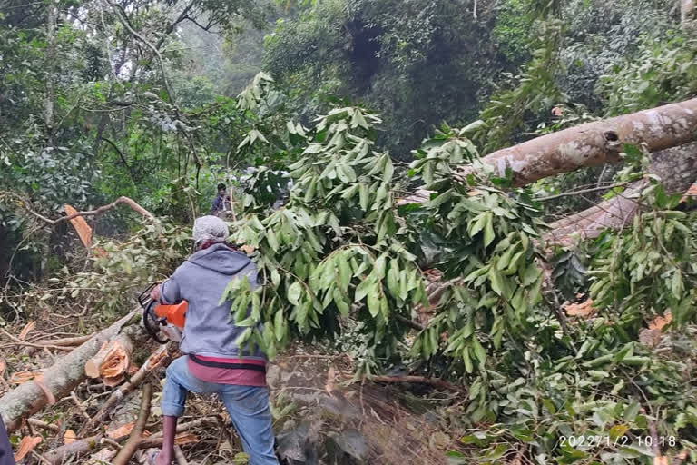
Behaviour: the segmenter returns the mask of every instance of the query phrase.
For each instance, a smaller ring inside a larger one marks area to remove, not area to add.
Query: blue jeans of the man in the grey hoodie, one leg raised
[[[213,393],[221,397],[250,456],[250,465],[279,465],[273,452],[273,431],[269,410],[269,389],[234,384],[218,384],[194,377],[187,366],[187,356],[172,361],[162,391],[162,415],[181,417],[186,394]]]

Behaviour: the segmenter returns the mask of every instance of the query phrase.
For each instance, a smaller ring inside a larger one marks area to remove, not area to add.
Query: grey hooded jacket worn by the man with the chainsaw
[[[188,302],[180,345],[183,353],[266,360],[266,355],[258,348],[250,353],[249,347],[245,346],[240,353],[235,341],[245,328],[231,322],[230,299],[219,305],[231,280],[243,276],[247,276],[252,289],[259,286],[256,264],[244,253],[218,243],[192,254],[170,279],[162,282],[162,303]]]

